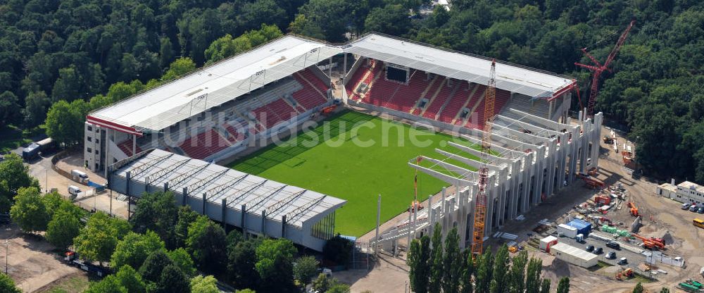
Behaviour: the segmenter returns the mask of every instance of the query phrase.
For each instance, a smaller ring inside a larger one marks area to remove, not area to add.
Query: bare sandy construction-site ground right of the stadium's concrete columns
[[[610,131],[603,129],[602,134]],[[618,137],[619,142],[623,142],[622,137]],[[620,145],[621,147],[621,145]],[[656,182],[651,182],[646,177],[636,180],[629,170],[623,168],[622,158],[611,146],[602,145],[601,159],[599,161],[600,170],[598,179],[603,180],[607,185],[614,185],[620,182],[627,189],[627,201],[633,201],[639,208],[639,213],[643,216],[643,227],[639,235],[646,237],[662,237],[666,233],[672,237],[672,243],[667,244],[664,254],[669,256],[681,256],[686,260],[684,268],[667,266],[662,263],[657,264],[658,268],[667,271],[667,275],[658,274],[657,280],[643,283],[643,286],[650,292],[659,292],[662,287],[669,287],[674,291],[679,282],[692,278],[702,280],[698,274],[699,269],[704,266],[704,255],[700,251],[704,247],[704,229],[693,227],[691,221],[698,214],[690,211],[683,211],[679,208],[679,202],[665,199],[655,194]],[[570,187],[562,189],[558,194],[549,197],[539,206],[525,214],[526,220],[522,222],[508,221],[502,232],[510,232],[519,236],[517,242],[525,241],[529,238],[528,233],[537,226],[537,222],[544,218],[555,221],[564,218],[567,213],[574,211],[573,207],[593,198],[596,191],[584,187],[582,182],[575,181]],[[382,199],[383,200],[383,199]],[[620,229],[627,230],[627,227],[634,220],[629,215],[628,208],[620,210],[612,209],[607,215],[615,223],[620,224]],[[395,225],[398,220],[408,217],[407,213],[384,223],[380,231]],[[360,237],[361,239],[372,239],[374,231]],[[401,240],[400,242],[405,242]],[[498,247],[501,242],[491,239],[488,243],[491,247]],[[403,245],[403,244],[402,244]],[[636,282],[643,279],[615,280],[614,275],[617,267],[591,268],[589,270],[572,266],[564,261],[555,260],[549,254],[545,254],[529,247],[532,256],[543,260],[543,278],[550,278],[553,287],[557,285],[560,278],[570,277],[570,292],[631,292]],[[346,272],[334,273],[335,278],[351,284],[352,292],[362,292],[371,290],[372,292],[406,292],[405,286],[408,280],[408,266],[405,263],[405,254],[402,252],[397,258],[387,254],[379,254],[377,264],[369,271],[349,270]]]

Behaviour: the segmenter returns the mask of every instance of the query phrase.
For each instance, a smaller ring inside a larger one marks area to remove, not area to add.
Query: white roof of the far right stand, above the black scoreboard
[[[491,60],[439,49],[408,39],[370,34],[348,44],[344,51],[400,66],[424,70],[457,80],[486,85]],[[570,87],[573,81],[553,73],[496,63],[496,87],[533,97],[549,97]]]

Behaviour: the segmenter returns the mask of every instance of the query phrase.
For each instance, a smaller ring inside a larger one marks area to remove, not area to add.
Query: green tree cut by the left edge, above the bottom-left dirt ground
[[[29,173],[30,167],[25,166],[22,157],[17,154],[6,154],[0,161],[0,196],[12,199],[22,187],[37,187],[39,182]],[[3,212],[9,211],[9,207]]]

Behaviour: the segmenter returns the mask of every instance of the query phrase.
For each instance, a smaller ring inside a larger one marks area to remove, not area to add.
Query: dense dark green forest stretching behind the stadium
[[[382,32],[549,70],[576,78],[586,104],[590,73],[574,66],[589,62],[580,49],[603,60],[636,20],[602,75],[596,111],[629,132],[645,173],[704,182],[703,3],[451,4],[447,10],[426,0],[0,0],[0,135],[46,132],[80,144],[82,130],[72,129],[88,111],[287,32],[336,43]],[[63,117],[70,119],[56,119]]]

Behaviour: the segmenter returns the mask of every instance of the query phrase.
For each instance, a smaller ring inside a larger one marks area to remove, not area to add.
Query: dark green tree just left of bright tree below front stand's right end
[[[227,251],[227,274],[237,288],[254,288],[259,284],[257,263],[257,240],[249,239],[237,243]]]

